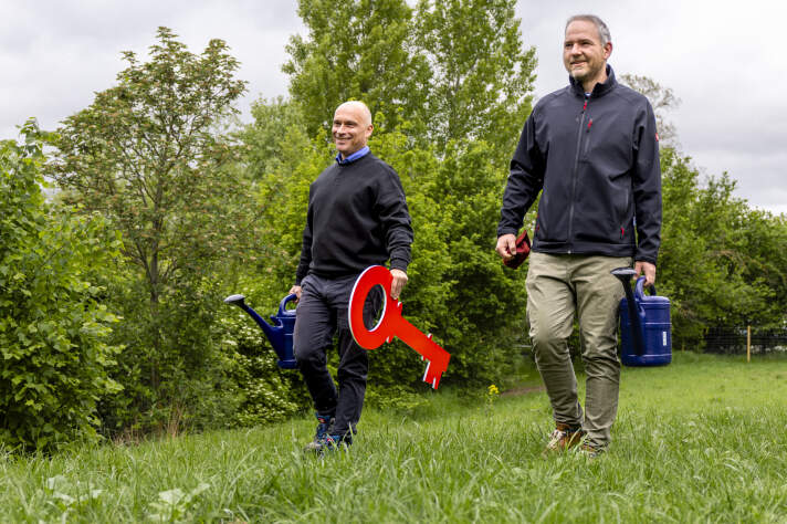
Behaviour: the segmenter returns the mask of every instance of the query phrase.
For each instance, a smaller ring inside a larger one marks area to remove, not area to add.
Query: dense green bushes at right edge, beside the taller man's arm
[[[707,326],[781,326],[787,311],[784,217],[748,208],[726,175],[701,187],[690,159],[662,148],[664,223],[660,293],[672,301],[673,344]]]

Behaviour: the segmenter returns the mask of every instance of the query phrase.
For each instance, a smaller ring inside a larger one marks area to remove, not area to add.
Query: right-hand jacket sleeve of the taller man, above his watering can
[[[632,189],[637,219],[634,261],[655,264],[661,245],[661,164],[655,117],[650,103],[638,117],[634,128],[634,170]]]

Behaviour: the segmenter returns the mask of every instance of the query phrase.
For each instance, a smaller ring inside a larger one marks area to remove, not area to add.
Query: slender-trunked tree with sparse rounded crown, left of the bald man
[[[117,85],[64,120],[50,164],[66,198],[123,232],[120,378],[136,411],[199,396],[183,389],[216,358],[217,275],[253,238],[239,147],[221,134],[244,92],[238,62],[221,40],[196,55],[167,28],[157,38],[148,62],[124,53]]]

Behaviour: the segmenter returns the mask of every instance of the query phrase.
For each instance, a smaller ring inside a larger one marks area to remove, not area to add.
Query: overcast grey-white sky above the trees
[[[228,42],[249,82],[239,106],[248,122],[251,102],[286,95],[284,46],[304,31],[296,0],[0,0],[0,138],[31,116],[54,129],[90,105],[125,67],[120,51],[145,56],[159,25],[195,53],[212,38]],[[520,0],[523,39],[538,56],[536,96],[567,83],[564,23],[588,11],[610,28],[617,74],[650,76],[681,98],[668,119],[694,164],[707,175],[728,171],[738,196],[787,213],[787,3]]]

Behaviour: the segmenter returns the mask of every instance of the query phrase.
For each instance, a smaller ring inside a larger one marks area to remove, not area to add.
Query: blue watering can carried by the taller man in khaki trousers
[[[626,298],[620,301],[620,361],[626,366],[663,366],[672,361],[672,323],[670,300],[644,294],[644,276],[637,279],[631,291],[631,277],[637,272],[631,268],[612,270]]]

